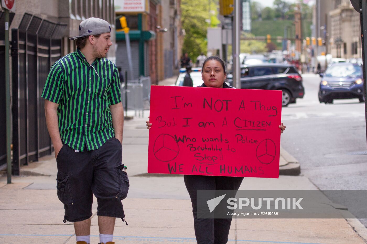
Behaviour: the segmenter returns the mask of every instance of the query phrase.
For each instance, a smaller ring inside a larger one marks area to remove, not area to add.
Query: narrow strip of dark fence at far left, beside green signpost
[[[10,13],[9,22],[14,18]],[[10,25],[10,24],[9,24]],[[0,170],[6,167],[5,14],[0,11]]]

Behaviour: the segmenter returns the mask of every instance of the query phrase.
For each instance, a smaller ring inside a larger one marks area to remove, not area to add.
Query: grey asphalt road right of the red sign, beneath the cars
[[[320,104],[317,94],[321,78],[314,74],[302,77],[305,97],[282,109],[287,129],[281,145],[299,160],[301,174],[319,189],[367,190],[364,103],[342,99]],[[348,207],[345,200],[333,202]],[[362,204],[366,206],[366,202]],[[367,227],[366,219],[359,220]]]

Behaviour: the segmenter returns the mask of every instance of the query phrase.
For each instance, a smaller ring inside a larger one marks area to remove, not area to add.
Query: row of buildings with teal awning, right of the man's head
[[[115,1],[116,16],[126,16],[130,28],[130,80],[148,77],[151,84],[158,84],[177,71],[183,43],[180,4],[180,0]],[[116,38],[116,64],[128,70],[125,34],[117,31]]]

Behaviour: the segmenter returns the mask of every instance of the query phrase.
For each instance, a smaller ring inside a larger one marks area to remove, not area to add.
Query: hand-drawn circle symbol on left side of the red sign
[[[154,156],[162,162],[175,159],[179,152],[178,143],[170,134],[160,134],[154,142]]]

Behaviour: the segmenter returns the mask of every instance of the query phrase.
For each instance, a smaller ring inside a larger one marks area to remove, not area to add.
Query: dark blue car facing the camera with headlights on
[[[364,102],[363,71],[360,64],[339,63],[320,73],[320,103],[333,103],[334,99],[358,98]]]

